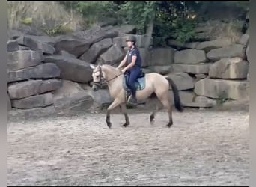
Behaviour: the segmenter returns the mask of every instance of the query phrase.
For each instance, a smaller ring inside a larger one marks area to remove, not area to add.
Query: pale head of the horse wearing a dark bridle
[[[93,91],[97,91],[99,88],[103,86],[103,79],[105,79],[102,67],[100,65],[95,66],[94,64],[90,64],[91,69],[93,69],[92,77],[93,77]]]

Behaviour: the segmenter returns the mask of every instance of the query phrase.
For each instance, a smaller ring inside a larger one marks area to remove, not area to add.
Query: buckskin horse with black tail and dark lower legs
[[[97,65],[90,64],[93,69],[93,91],[97,91],[102,88],[103,81],[105,79],[108,87],[110,96],[112,96],[113,102],[107,108],[106,112],[106,123],[111,128],[112,123],[110,122],[110,113],[112,109],[117,107],[121,108],[121,112],[124,114],[125,123],[124,127],[129,125],[129,117],[127,114],[127,86],[125,84],[125,76],[116,67],[112,67],[108,64]],[[162,102],[162,105],[168,111],[169,122],[167,124],[170,127],[173,124],[172,121],[172,106],[171,106],[171,95],[169,93],[169,88],[172,88],[174,93],[174,105],[177,111],[183,111],[183,105],[180,102],[179,91],[177,90],[177,85],[168,77],[162,76],[159,73],[144,73],[137,79],[136,82],[136,98],[139,101],[148,99],[150,96],[157,96],[157,98]],[[156,111],[158,107],[156,106]],[[156,111],[150,114],[150,123],[153,122],[155,118]]]

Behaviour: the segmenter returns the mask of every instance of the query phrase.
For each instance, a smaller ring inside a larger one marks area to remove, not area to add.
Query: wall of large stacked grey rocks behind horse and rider
[[[109,105],[107,89],[91,92],[89,64],[117,66],[127,51],[125,37],[134,32],[132,25],[95,27],[58,37],[8,31],[10,117],[85,113]],[[220,38],[180,46],[169,40],[170,47],[148,50],[147,38],[135,36],[144,72],[171,77],[183,105],[210,107],[222,99],[249,99],[249,34],[237,43]]]

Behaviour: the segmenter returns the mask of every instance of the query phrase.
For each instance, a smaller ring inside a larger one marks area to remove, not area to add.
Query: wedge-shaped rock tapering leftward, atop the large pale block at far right
[[[245,58],[246,48],[240,44],[225,46],[219,49],[212,49],[207,53],[207,58],[211,61],[219,61],[221,58],[240,57]]]

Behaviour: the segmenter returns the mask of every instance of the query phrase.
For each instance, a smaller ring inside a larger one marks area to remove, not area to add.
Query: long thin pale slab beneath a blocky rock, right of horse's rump
[[[209,73],[209,67],[212,63],[200,63],[200,64],[172,64],[174,72],[186,72],[186,73]]]

